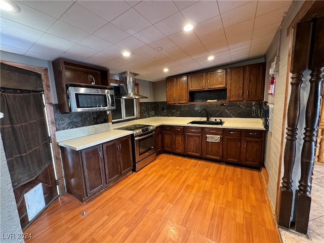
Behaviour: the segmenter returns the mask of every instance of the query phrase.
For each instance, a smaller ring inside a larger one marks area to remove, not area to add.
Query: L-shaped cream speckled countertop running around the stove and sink
[[[73,150],[81,150],[94,145],[105,143],[117,138],[121,138],[130,134],[131,131],[116,130],[133,124],[153,125],[179,125],[186,127],[206,127],[206,128],[222,128],[222,129],[249,129],[249,130],[265,130],[261,118],[233,118],[233,117],[217,117],[224,121],[223,126],[213,125],[196,125],[188,124],[192,120],[206,120],[205,117],[169,117],[154,116],[143,119],[125,121],[117,124],[94,125],[83,128],[75,128],[56,132],[57,143],[60,146]],[[215,120],[211,118],[210,120]]]

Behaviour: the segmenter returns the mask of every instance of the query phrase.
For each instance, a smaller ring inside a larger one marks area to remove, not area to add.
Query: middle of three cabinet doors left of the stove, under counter
[[[118,140],[113,140],[102,145],[104,160],[106,183],[110,184],[120,177],[119,153],[117,151]]]

